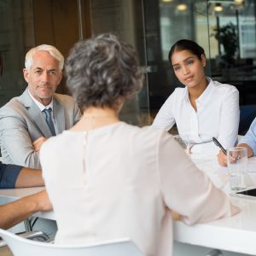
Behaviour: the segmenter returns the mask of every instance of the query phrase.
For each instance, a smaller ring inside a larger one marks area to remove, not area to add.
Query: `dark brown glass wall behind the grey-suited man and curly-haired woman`
[[[145,73],[142,92],[125,102],[120,117],[149,124],[143,23],[143,0],[0,0],[0,107],[26,88],[22,69],[28,49],[53,44],[66,57],[79,39],[114,32],[135,46]],[[57,91],[68,93],[65,79]]]

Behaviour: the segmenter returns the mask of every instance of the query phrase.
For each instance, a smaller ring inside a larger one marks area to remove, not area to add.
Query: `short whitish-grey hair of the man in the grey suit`
[[[61,55],[61,52],[58,49],[56,49],[54,46],[49,44],[38,45],[30,49],[26,53],[26,58],[25,58],[26,69],[30,69],[32,67],[33,55],[35,55],[38,51],[47,51],[49,55],[52,55],[55,58],[55,60],[59,61],[59,70],[61,71],[63,69],[63,66],[64,66],[63,55]]]

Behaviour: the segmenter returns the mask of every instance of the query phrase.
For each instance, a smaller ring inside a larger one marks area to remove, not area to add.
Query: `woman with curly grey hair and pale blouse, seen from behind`
[[[172,211],[187,224],[236,212],[166,131],[119,120],[143,82],[130,44],[113,34],[79,42],[66,72],[83,116],[40,154],[56,243],[130,237],[144,255],[172,255]]]

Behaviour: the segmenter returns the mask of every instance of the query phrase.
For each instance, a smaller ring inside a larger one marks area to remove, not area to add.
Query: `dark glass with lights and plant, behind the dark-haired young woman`
[[[148,73],[153,116],[183,86],[172,72],[168,52],[177,40],[188,38],[205,49],[207,75],[237,87],[241,123],[248,126],[256,116],[255,9],[253,0],[144,0],[147,61],[154,67]]]

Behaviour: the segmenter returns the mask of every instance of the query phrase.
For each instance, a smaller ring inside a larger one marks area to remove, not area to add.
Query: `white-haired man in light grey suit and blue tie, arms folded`
[[[54,46],[42,44],[27,52],[23,69],[27,88],[0,108],[3,163],[41,169],[41,144],[79,120],[73,98],[55,93],[63,65],[64,57]]]

